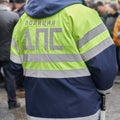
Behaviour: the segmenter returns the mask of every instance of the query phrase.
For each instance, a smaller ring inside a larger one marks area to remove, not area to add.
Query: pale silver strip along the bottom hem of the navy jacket
[[[100,116],[100,110],[98,110],[94,115],[79,117],[79,118],[39,118],[27,115],[28,120],[98,120]]]

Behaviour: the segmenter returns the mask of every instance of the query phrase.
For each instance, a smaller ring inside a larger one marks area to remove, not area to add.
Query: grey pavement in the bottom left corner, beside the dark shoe
[[[5,89],[0,89],[0,120],[27,120],[25,112],[25,99],[17,98],[20,108],[9,110]]]

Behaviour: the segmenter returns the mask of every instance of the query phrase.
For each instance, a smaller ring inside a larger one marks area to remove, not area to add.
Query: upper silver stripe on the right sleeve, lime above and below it
[[[85,45],[89,40],[93,39],[100,33],[104,32],[106,29],[105,25],[102,23],[89,31],[85,36],[78,41],[78,48],[81,48],[83,45]]]

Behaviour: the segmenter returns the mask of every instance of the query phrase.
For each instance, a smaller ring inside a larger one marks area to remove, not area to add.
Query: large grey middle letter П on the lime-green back
[[[44,33],[44,48],[48,50],[48,29],[47,28],[38,28],[36,29],[36,49],[39,49],[39,34]]]

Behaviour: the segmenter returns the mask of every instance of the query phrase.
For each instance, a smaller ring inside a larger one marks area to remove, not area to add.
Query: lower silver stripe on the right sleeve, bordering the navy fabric
[[[92,59],[93,57],[97,56],[99,53],[101,53],[106,48],[110,47],[112,44],[114,43],[111,40],[111,38],[107,38],[103,42],[101,42],[100,44],[98,44],[97,46],[95,46],[94,48],[86,52],[85,54],[83,54],[82,57],[85,61],[88,61]]]

